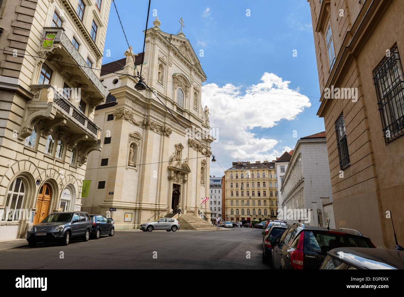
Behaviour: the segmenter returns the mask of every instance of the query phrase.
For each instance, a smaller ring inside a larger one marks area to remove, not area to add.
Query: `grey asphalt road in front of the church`
[[[1,269],[269,269],[263,229],[204,232],[116,231],[68,246],[38,244],[0,251]],[[61,259],[61,252],[64,258]]]

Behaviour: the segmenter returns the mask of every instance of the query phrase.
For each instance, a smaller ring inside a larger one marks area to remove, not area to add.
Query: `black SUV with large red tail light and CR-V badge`
[[[295,223],[282,237],[270,237],[272,268],[319,269],[327,252],[337,247],[367,247],[375,245],[366,236],[351,229],[326,229]]]

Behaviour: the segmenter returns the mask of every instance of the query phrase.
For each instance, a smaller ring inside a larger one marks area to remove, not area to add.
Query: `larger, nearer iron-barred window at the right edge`
[[[397,46],[373,70],[383,136],[387,143],[404,135],[404,80]]]

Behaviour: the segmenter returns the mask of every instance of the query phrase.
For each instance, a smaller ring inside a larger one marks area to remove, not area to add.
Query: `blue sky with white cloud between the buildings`
[[[142,51],[147,5],[147,0],[116,1],[134,52]],[[218,140],[212,144],[212,150],[224,169],[237,158],[252,162],[275,159],[293,148],[298,138],[324,131],[324,121],[316,115],[320,90],[306,1],[246,4],[238,0],[152,0],[148,27],[153,26],[154,9],[162,31],[177,33],[182,17],[183,32],[195,52],[204,50],[199,59],[208,79],[202,88],[202,106],[208,105],[210,124],[217,129]],[[126,48],[111,4],[103,63],[123,58]],[[111,50],[111,57],[105,56],[106,50]],[[292,55],[294,50],[297,56]],[[258,92],[217,88],[224,86]],[[303,109],[307,110],[274,127]],[[294,130],[297,137],[293,137]],[[244,144],[231,148],[240,142]],[[227,151],[221,153],[224,150]],[[218,163],[211,163],[210,174],[222,176],[223,170]]]

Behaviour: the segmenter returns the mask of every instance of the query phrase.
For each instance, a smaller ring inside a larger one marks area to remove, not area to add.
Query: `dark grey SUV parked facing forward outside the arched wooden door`
[[[30,247],[40,242],[56,241],[68,245],[71,238],[82,237],[83,241],[90,238],[90,215],[84,211],[54,212],[42,222],[29,228],[27,241]]]

